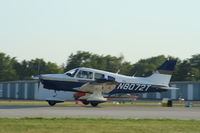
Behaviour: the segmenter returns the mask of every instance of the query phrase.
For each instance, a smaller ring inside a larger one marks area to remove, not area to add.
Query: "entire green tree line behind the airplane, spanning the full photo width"
[[[147,59],[141,59],[136,63],[124,60],[123,56],[98,55],[85,51],[72,53],[66,65],[58,66],[43,59],[30,61],[17,61],[5,53],[0,53],[0,81],[27,80],[32,75],[44,73],[63,73],[76,67],[90,67],[110,71],[129,76],[149,76],[167,59],[177,60],[172,81],[200,81],[200,54],[193,55],[189,59],[180,60],[177,57],[159,55]]]

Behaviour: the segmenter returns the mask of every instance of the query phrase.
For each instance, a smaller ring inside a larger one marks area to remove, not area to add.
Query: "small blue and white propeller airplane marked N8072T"
[[[95,107],[99,103],[107,101],[103,94],[150,93],[178,89],[169,87],[175,65],[176,60],[166,60],[149,77],[125,76],[118,73],[80,67],[64,74],[42,74],[34,76],[33,79],[38,79],[45,89],[86,93],[79,100],[85,105],[91,104]],[[50,105],[55,104],[56,101]]]

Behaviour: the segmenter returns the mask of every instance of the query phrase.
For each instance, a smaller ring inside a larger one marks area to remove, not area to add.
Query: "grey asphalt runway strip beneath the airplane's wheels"
[[[152,118],[200,120],[200,107],[90,107],[90,106],[29,106],[0,105],[0,117],[46,117],[46,118]]]

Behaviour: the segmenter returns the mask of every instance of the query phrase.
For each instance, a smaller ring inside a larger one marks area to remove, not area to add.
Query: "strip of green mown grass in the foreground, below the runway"
[[[0,118],[0,133],[199,133],[199,125],[169,119]]]

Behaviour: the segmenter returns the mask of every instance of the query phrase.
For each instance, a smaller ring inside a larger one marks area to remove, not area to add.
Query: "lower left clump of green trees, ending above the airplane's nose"
[[[57,64],[43,59],[18,62],[15,57],[0,53],[0,81],[27,80],[33,75],[62,72],[63,69]]]

